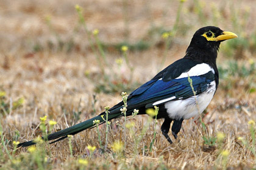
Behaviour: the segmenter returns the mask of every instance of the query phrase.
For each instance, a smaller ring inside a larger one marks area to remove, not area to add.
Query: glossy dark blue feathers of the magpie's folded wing
[[[193,88],[197,94],[204,92],[208,85],[214,80],[214,74],[208,72],[205,75],[190,77]],[[170,81],[151,80],[130,94],[128,106],[154,103],[169,97],[185,99],[193,96],[188,78],[172,79]]]

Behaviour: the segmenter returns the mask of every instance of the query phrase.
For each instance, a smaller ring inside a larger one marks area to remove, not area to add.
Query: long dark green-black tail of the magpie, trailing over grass
[[[88,129],[90,127],[95,126],[95,124],[93,124],[94,120],[99,120],[100,123],[105,123],[105,121],[102,118],[102,115],[104,115],[104,119],[105,119],[105,114],[98,115],[94,118],[83,121],[82,123],[79,123],[79,124],[76,124],[74,126],[68,127],[66,129],[55,132],[53,134],[49,134],[48,137],[47,137],[47,140],[51,141],[51,140],[57,139],[57,140],[51,142],[51,143],[55,143],[57,141],[60,141],[60,140],[63,140],[65,138],[67,138],[68,135],[75,135],[75,134],[77,134],[81,131],[84,131],[85,129]],[[112,120],[113,118],[118,118],[120,116],[122,116],[121,112],[118,112],[116,114],[108,114],[108,120]],[[42,138],[44,139],[44,137],[42,137]],[[26,141],[24,143],[18,144],[18,147],[20,147],[20,146],[21,147],[27,147],[27,146],[30,146],[30,145],[33,145],[33,144],[36,144],[36,143],[35,143],[35,141],[31,140],[31,141]]]

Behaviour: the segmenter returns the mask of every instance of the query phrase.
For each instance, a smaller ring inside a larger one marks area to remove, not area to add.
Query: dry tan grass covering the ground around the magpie
[[[199,5],[195,5],[196,2]],[[120,81],[117,83],[127,84],[124,87],[129,90],[150,80],[158,72],[165,51],[165,40],[161,38],[161,33],[172,29],[179,1],[0,1],[0,91],[5,92],[2,101],[9,106],[10,103],[13,105],[13,101],[24,98],[24,103],[21,102],[7,114],[4,114],[3,107],[0,110],[4,143],[9,151],[13,149],[13,140],[31,140],[41,134],[37,127],[39,117],[48,115],[49,120],[57,121],[54,129],[57,131],[87,120],[102,112],[104,106],[113,106],[121,101],[120,94],[126,89],[119,87],[110,94],[94,92],[98,82],[104,84],[104,79],[88,42],[88,35],[79,26],[74,9],[76,4],[84,9],[88,30],[99,29],[99,39],[106,46],[105,55],[112,67],[110,69],[104,65],[105,74],[113,84],[116,83],[113,78],[117,76]],[[252,43],[251,35],[256,35],[255,8],[255,1],[250,0],[185,2],[178,31],[167,50],[165,66],[182,58],[191,36],[204,25],[230,30]],[[246,12],[249,14],[244,19]],[[149,30],[154,33],[149,33]],[[136,44],[141,39],[150,45],[146,50],[128,51],[129,62],[135,68],[133,79],[129,81],[132,72],[125,63],[121,66],[115,63],[122,54],[114,45],[124,41]],[[235,61],[245,63],[246,68],[250,66],[248,60],[255,61],[256,53],[250,49],[255,49],[254,44],[252,47],[242,46],[240,50],[229,50],[227,48],[230,46],[225,43],[219,52],[219,67],[230,69],[227,63],[234,58],[226,56],[227,53],[241,56]],[[151,123],[138,146],[138,154],[135,154],[134,138],[140,135],[148,120],[147,116],[137,116],[129,120],[136,124],[132,127],[136,135],[134,137],[132,132],[127,132],[127,146],[122,157],[116,157],[111,148],[114,141],[123,137],[123,129],[116,126],[114,120],[108,152],[102,154],[100,149],[96,149],[93,156],[88,158],[88,144],[99,148],[96,129],[89,129],[74,136],[73,157],[69,152],[68,140],[46,146],[48,160],[44,168],[79,169],[82,165],[77,160],[82,157],[88,159],[90,163],[87,166],[91,169],[251,169],[255,167],[256,158],[248,149],[252,147],[253,138],[247,122],[256,120],[256,95],[253,89],[256,89],[255,71],[244,77],[229,75],[220,80],[219,89],[204,118],[211,137],[216,137],[218,132],[225,134],[224,140],[214,146],[204,144],[202,128],[192,120],[184,121],[178,140],[170,145],[160,132],[163,122],[160,120],[152,152],[143,149],[144,146],[149,147],[153,137],[154,127]],[[93,95],[96,95],[96,102]],[[123,118],[118,120],[123,124]],[[104,129],[104,125],[100,126],[102,139]],[[14,138],[15,131],[20,132],[18,139]],[[248,147],[238,137],[243,137]],[[27,148],[18,149],[12,155],[14,159],[24,162],[18,163],[18,167],[13,160],[9,160],[3,143],[1,150],[0,168],[40,168],[35,162],[31,164],[31,153],[25,154]],[[229,151],[227,165],[222,151]],[[26,164],[29,161],[30,164]]]

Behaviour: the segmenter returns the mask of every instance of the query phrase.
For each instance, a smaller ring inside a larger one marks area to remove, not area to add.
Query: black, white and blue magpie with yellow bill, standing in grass
[[[168,135],[171,123],[173,122],[171,134],[177,139],[183,120],[198,118],[205,110],[219,84],[216,66],[219,46],[222,41],[237,37],[235,33],[223,31],[215,26],[197,30],[183,58],[170,64],[128,95],[126,116],[131,116],[134,109],[139,110],[138,115],[146,114],[147,109],[157,106],[157,119],[164,119],[161,126],[162,134],[172,144]],[[123,101],[111,107],[108,110],[108,120],[123,117],[124,114],[120,110],[123,107]],[[105,123],[104,117],[106,118],[106,113],[102,112],[82,123],[49,134],[47,140],[51,143],[63,140],[68,135],[75,135],[94,127],[95,120]],[[18,147],[32,144],[36,144],[35,141],[25,141]]]

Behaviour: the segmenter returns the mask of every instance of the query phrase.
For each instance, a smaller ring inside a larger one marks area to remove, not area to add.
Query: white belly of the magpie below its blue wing
[[[196,95],[198,107],[196,106],[194,96],[185,100],[173,100],[166,102],[165,109],[167,110],[169,118],[180,120],[180,118],[189,119],[191,117],[199,117],[199,113],[201,114],[212,100],[215,90],[216,83],[215,81],[212,81],[205,92]],[[197,108],[199,108],[199,110]]]

